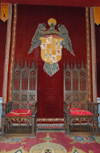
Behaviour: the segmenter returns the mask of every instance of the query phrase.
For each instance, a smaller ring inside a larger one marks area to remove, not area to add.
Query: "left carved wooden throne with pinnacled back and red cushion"
[[[2,104],[2,132],[5,135],[36,135],[37,67],[14,66],[12,102]]]

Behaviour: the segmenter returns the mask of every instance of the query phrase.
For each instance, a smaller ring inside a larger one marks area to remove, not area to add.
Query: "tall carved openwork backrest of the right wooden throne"
[[[86,65],[76,64],[64,66],[64,100],[67,102],[86,102],[87,93],[87,68]]]

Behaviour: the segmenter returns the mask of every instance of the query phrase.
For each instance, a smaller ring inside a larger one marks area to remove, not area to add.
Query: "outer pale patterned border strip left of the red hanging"
[[[2,103],[6,103],[6,98],[7,98],[7,83],[8,83],[7,80],[8,80],[10,41],[11,41],[11,21],[12,21],[12,4],[9,4],[9,18],[8,18],[8,22],[7,22],[7,37],[6,37],[6,47],[5,47]]]

